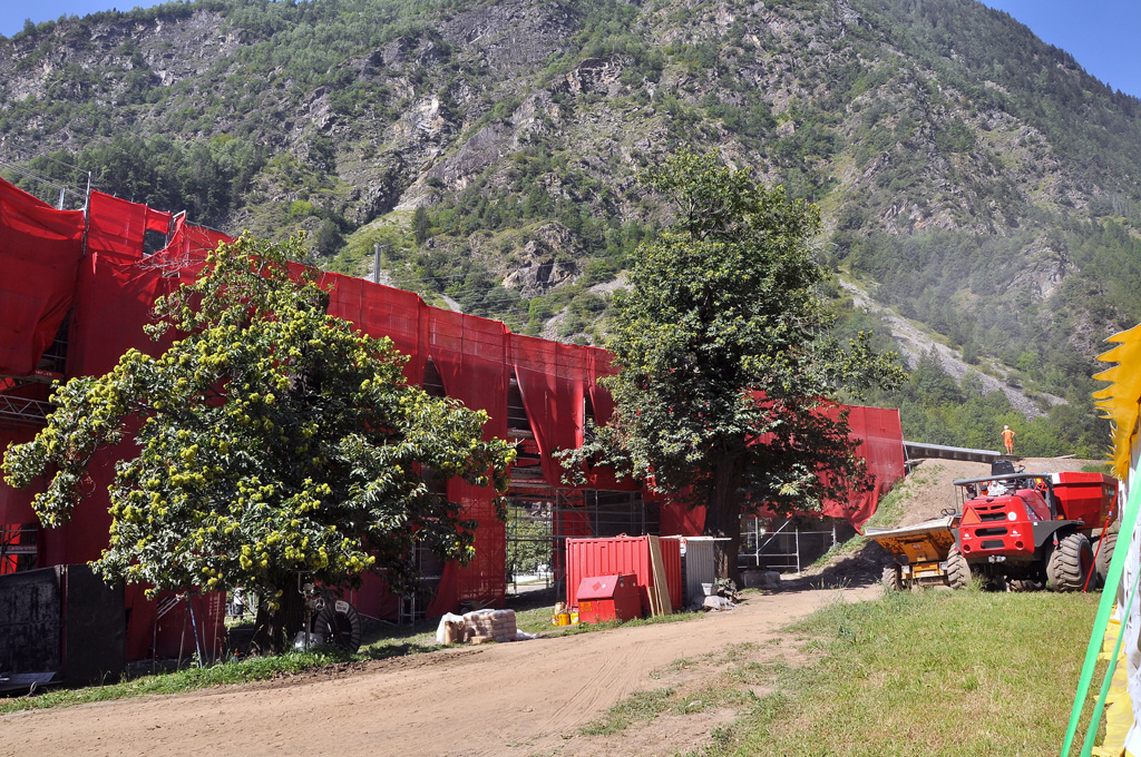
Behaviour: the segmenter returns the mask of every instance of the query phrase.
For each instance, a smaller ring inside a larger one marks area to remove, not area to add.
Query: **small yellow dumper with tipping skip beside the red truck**
[[[915,526],[866,529],[867,538],[896,557],[883,569],[884,586],[893,591],[966,586],[971,569],[955,546],[958,520],[958,514],[948,514]]]

